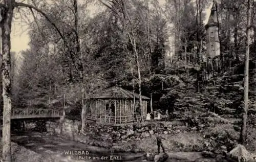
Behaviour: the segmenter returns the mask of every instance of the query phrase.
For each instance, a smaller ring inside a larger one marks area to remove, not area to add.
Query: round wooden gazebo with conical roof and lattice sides
[[[134,106],[134,96],[135,103]],[[121,87],[105,89],[100,95],[87,100],[86,119],[106,125],[124,125],[146,119],[147,101],[150,98],[141,96],[142,106],[139,108],[139,95]]]

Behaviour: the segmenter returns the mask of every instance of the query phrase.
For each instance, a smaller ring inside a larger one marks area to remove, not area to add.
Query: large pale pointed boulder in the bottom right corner
[[[243,145],[238,145],[228,153],[228,158],[233,161],[253,161],[252,155]]]

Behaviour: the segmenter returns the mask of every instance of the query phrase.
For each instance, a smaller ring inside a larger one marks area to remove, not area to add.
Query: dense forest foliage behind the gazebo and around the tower
[[[228,55],[230,64],[220,74],[212,75],[205,72],[203,64],[204,22],[208,18],[203,11],[209,10],[211,2],[129,1],[123,4],[125,14],[118,1],[88,0],[78,3],[77,8],[73,2],[35,1],[34,5],[48,13],[65,39],[44,17],[34,15],[29,32],[30,49],[22,52],[23,63],[13,86],[15,106],[63,106],[64,100],[75,105],[81,98],[112,85],[129,90],[134,86],[138,92],[138,65],[129,38],[132,32],[139,57],[142,95],[152,95],[154,108],[205,109],[220,106],[218,103],[226,98],[229,102],[242,101],[242,94],[231,99],[227,93],[220,97],[207,88],[220,90],[216,80],[224,79],[227,73],[234,78],[231,71],[241,64],[246,4],[219,2],[221,53]],[[233,62],[236,59],[240,61]]]

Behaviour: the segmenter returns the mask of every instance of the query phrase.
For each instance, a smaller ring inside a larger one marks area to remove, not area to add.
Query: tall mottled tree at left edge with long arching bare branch
[[[42,10],[35,6],[16,3],[15,0],[1,1],[1,30],[2,30],[2,83],[3,83],[3,101],[4,101],[4,112],[3,112],[3,162],[11,162],[11,78],[10,78],[10,62],[11,62],[11,26],[14,14],[14,8],[27,7],[31,11],[32,9],[41,13],[48,21],[51,22],[53,27],[57,30],[63,41],[65,38],[60,33],[53,21],[44,13]]]

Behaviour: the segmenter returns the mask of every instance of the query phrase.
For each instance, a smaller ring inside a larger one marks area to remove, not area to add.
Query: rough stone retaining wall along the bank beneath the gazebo
[[[56,133],[77,142],[105,148],[111,148],[115,143],[141,140],[156,132],[171,134],[188,129],[182,121],[136,123],[119,127],[88,123],[84,134],[81,134],[81,122],[79,121],[65,119],[61,133],[58,124],[58,122],[47,122],[47,132],[50,134]]]

